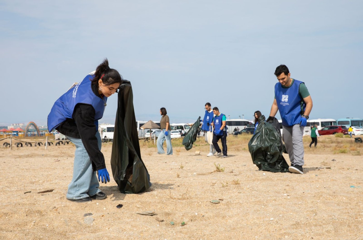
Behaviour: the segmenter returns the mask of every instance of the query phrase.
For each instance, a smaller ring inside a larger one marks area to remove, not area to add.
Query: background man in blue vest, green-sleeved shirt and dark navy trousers
[[[213,113],[215,114],[213,118],[213,122],[211,123],[214,126],[213,130],[213,146],[217,150],[216,157],[219,158],[222,154],[221,149],[218,146],[218,141],[221,139],[223,156],[222,158],[227,158],[227,126],[226,126],[226,116],[223,113],[219,112],[218,107],[213,107]]]

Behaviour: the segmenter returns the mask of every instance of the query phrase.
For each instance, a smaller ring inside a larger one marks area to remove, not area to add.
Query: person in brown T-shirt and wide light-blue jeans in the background
[[[173,147],[171,146],[171,127],[170,127],[170,121],[169,116],[166,115],[166,109],[165,107],[160,108],[160,129],[162,130],[158,137],[158,142],[156,143],[156,146],[158,147],[158,154],[164,154],[164,141],[166,141],[166,154],[172,155],[173,154]]]

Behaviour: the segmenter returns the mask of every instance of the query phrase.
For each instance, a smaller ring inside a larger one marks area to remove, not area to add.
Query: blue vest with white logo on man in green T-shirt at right
[[[291,127],[300,123],[302,112],[299,94],[299,86],[303,82],[294,80],[289,88],[282,88],[280,82],[275,85],[275,97],[278,111],[280,112],[282,125]],[[302,101],[303,102],[303,101]],[[305,102],[303,102],[303,111],[305,111]]]

